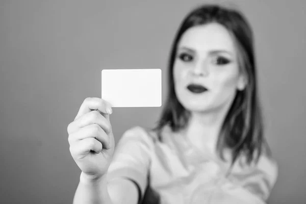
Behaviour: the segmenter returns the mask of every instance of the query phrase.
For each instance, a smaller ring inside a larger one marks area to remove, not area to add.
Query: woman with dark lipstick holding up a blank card
[[[74,203],[265,203],[277,178],[263,136],[253,36],[244,16],[204,5],[179,28],[155,129],[114,153],[110,104],[87,98],[68,125],[82,170]]]

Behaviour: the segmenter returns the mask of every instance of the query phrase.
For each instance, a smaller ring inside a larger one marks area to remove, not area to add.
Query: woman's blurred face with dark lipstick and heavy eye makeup
[[[236,90],[244,88],[230,33],[218,23],[188,29],[177,45],[173,78],[177,99],[187,110],[230,106]]]

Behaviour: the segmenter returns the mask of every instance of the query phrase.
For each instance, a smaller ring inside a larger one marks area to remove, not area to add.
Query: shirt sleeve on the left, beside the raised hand
[[[153,145],[152,139],[140,126],[124,132],[115,147],[108,169],[108,180],[119,177],[132,180],[138,185],[141,200],[147,187]]]

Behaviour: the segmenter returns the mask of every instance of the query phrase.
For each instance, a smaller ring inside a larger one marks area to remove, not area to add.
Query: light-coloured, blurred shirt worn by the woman
[[[125,177],[140,190],[139,203],[263,204],[273,188],[278,166],[262,155],[257,165],[244,168],[199,151],[166,126],[163,142],[153,131],[134,126],[118,141],[108,179]]]

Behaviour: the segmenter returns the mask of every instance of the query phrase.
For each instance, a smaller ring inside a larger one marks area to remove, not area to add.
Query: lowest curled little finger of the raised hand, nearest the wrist
[[[86,156],[90,151],[96,154],[102,150],[102,144],[94,138],[86,138],[75,143],[70,149],[71,155],[74,158],[80,159]]]

